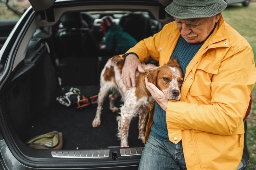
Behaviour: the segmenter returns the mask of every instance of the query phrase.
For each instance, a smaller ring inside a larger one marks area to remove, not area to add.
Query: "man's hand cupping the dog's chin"
[[[154,97],[155,101],[159,104],[159,106],[166,111],[168,99],[165,97],[164,92],[159,90],[154,84],[148,82],[148,78],[145,78],[145,83],[148,91]]]

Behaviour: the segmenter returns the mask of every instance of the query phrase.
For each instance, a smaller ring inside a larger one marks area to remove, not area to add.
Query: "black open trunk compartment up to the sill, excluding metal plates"
[[[62,58],[59,67],[56,67],[56,60],[51,58],[54,46],[51,49],[48,45],[53,44],[51,41],[53,39],[44,29],[36,31],[24,60],[33,62],[32,69],[24,67],[21,62],[22,71],[14,76],[6,89],[6,111],[17,137],[25,143],[37,135],[58,131],[63,134],[63,149],[120,146],[116,137],[116,117],[119,114],[109,110],[108,97],[104,102],[101,125],[97,128],[92,127],[97,103],[78,109],[77,104],[67,107],[56,100],[71,88],[79,89],[80,96],[98,95],[100,72],[111,56]],[[40,52],[39,55],[37,52]],[[19,65],[15,69],[20,69]],[[121,104],[119,97],[116,106]],[[129,144],[144,145],[138,139],[138,118],[132,120]]]

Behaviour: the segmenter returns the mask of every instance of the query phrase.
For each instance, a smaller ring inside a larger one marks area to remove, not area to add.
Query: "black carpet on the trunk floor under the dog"
[[[64,95],[71,86],[66,86],[60,90],[60,96]],[[76,86],[84,96],[94,96],[99,92],[98,86]],[[61,88],[60,88],[61,89]],[[58,96],[56,96],[58,97]],[[115,106],[120,107],[120,97],[116,99]],[[56,101],[50,111],[50,116],[46,123],[32,123],[28,129],[28,138],[59,131],[63,134],[63,149],[96,149],[108,146],[120,146],[120,140],[116,137],[117,122],[119,114],[109,110],[109,100],[106,98],[101,114],[101,125],[97,128],[92,127],[95,117],[97,104],[77,109],[75,106],[66,107]],[[143,146],[138,139],[138,116],[132,119],[129,129],[129,146]]]

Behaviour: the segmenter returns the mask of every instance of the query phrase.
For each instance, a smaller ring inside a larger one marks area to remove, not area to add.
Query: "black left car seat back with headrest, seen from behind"
[[[95,57],[99,54],[99,45],[89,28],[82,28],[80,12],[62,16],[63,29],[55,36],[59,58]]]

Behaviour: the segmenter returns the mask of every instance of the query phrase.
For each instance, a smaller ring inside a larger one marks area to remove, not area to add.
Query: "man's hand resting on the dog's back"
[[[146,71],[142,68],[140,60],[134,54],[129,54],[125,58],[124,67],[122,70],[122,81],[127,89],[135,87],[135,72],[138,69],[140,73]]]

